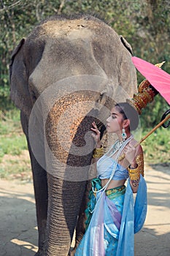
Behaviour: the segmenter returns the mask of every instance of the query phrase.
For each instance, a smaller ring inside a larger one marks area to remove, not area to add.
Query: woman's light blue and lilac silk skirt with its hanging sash
[[[134,233],[142,228],[147,214],[146,182],[141,176],[135,203],[129,180],[127,188],[116,194],[97,192],[96,201],[88,206],[93,214],[75,256],[134,256]]]

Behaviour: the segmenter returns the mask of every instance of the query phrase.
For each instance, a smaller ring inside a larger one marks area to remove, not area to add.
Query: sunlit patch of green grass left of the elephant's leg
[[[0,112],[0,178],[31,178],[26,136],[17,109]]]

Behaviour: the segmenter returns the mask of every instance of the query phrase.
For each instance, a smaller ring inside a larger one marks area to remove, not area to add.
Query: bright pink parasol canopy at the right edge
[[[136,69],[144,75],[151,85],[162,95],[170,105],[170,75],[150,62],[132,57]]]

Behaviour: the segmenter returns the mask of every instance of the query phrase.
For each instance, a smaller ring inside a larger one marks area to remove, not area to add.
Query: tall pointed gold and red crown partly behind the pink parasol
[[[155,64],[156,67],[161,69],[162,65],[165,61]],[[153,88],[148,80],[143,80],[142,83],[139,84],[138,92],[134,94],[132,99],[127,99],[127,102],[132,105],[132,107],[136,108],[139,115],[142,113],[142,108],[147,106],[147,103],[153,101],[155,95],[158,94],[158,91]]]

